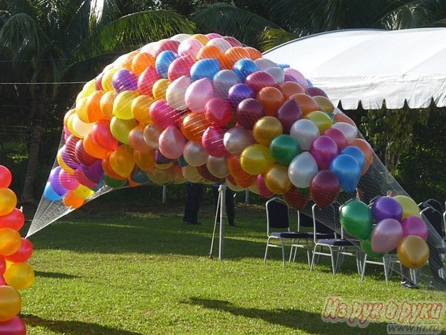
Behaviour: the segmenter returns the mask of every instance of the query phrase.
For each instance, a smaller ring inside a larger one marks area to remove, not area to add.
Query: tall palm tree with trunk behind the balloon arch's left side
[[[33,200],[44,121],[54,117],[63,82],[85,82],[116,54],[152,40],[193,33],[194,24],[169,10],[121,15],[118,0],[9,0],[0,11],[2,91],[28,106],[31,140],[21,195]],[[80,85],[68,89],[79,90]],[[60,123],[60,114],[59,114]]]

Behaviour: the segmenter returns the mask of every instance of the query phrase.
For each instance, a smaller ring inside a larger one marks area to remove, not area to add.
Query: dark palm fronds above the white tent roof
[[[322,31],[444,26],[445,17],[441,0],[245,0],[203,6],[191,20],[199,31],[234,36],[268,50]]]

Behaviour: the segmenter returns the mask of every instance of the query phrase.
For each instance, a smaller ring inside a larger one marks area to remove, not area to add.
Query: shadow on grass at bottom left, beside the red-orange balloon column
[[[26,325],[31,327],[43,327],[52,332],[66,335],[142,335],[137,332],[116,329],[96,323],[66,320],[45,320],[33,314],[21,315]]]

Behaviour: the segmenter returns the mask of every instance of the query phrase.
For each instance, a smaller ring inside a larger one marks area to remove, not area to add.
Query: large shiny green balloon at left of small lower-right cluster
[[[349,200],[341,208],[339,214],[341,225],[348,234],[357,239],[370,239],[374,228],[374,219],[371,209],[362,201]]]

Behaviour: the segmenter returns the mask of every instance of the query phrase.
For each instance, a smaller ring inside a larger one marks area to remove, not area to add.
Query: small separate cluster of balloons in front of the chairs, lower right
[[[383,257],[397,248],[402,265],[418,269],[429,259],[428,229],[417,203],[405,195],[380,197],[371,208],[348,200],[340,213],[341,225],[360,239],[362,250],[371,257]]]

